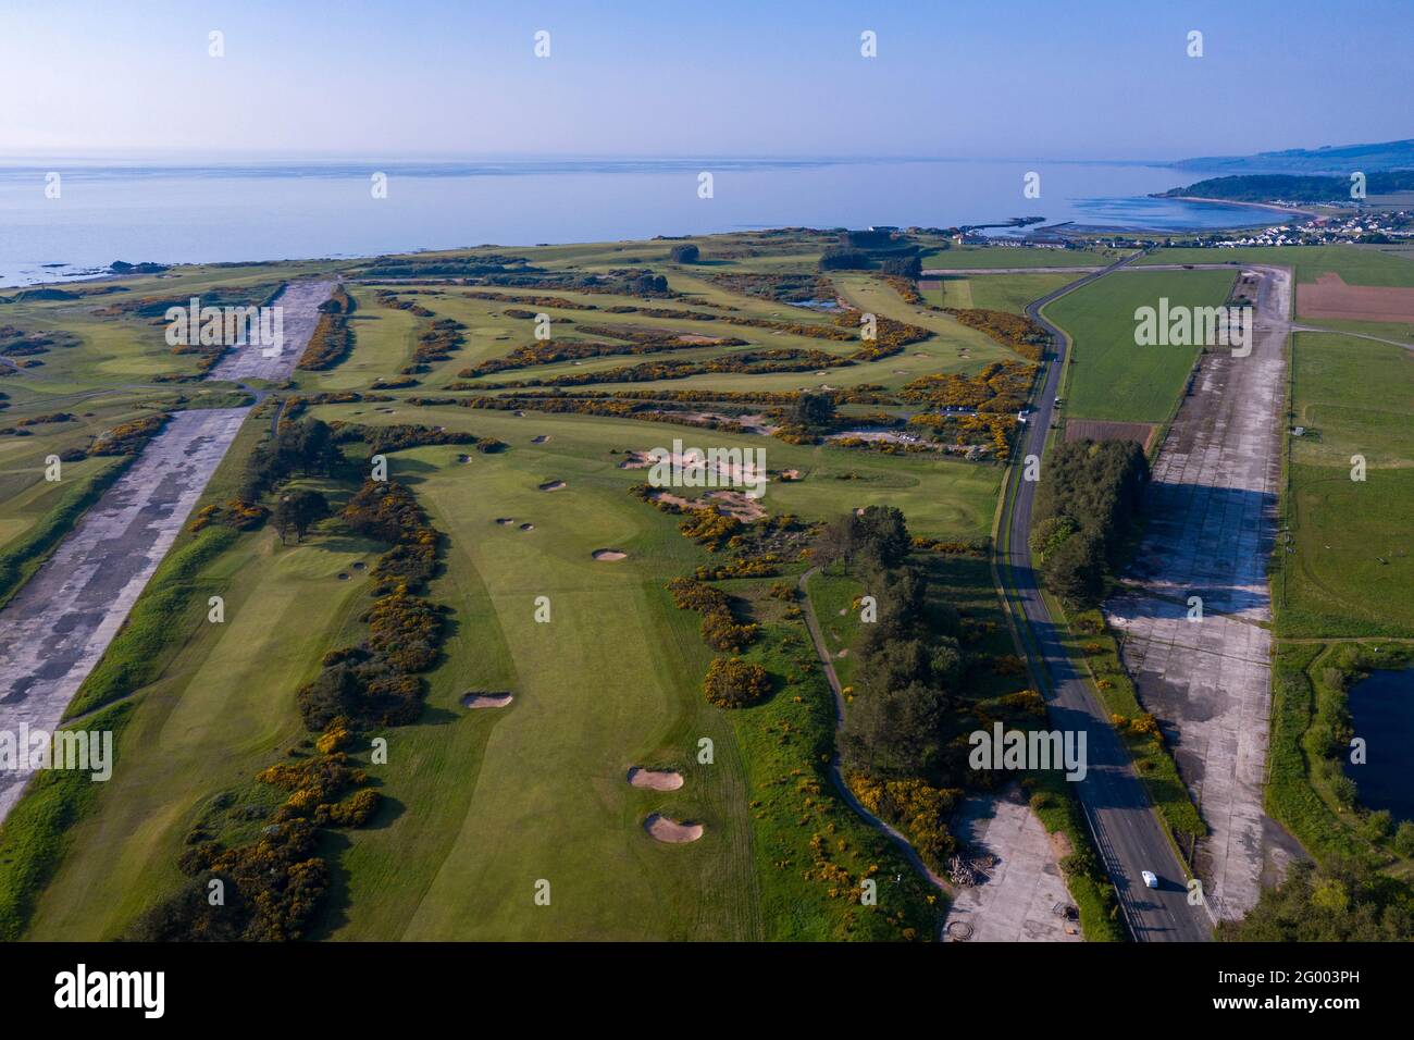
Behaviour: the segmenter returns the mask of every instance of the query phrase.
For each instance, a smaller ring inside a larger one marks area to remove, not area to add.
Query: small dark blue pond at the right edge
[[[1365,765],[1345,767],[1360,804],[1389,809],[1396,821],[1414,819],[1414,668],[1370,672],[1350,686],[1355,734],[1365,737]]]

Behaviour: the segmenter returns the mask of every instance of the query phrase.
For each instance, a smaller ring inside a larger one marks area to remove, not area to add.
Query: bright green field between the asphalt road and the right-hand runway
[[[1138,307],[1212,307],[1227,299],[1227,272],[1121,272],[1092,282],[1046,307],[1073,341],[1063,391],[1076,419],[1159,423],[1184,392],[1199,347],[1140,347]]]

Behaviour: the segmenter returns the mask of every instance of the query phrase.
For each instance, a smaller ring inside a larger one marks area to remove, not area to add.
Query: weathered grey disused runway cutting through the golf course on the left
[[[218,366],[242,378],[286,379],[308,342],[332,283],[291,283],[284,351],[240,347]],[[247,357],[249,355],[249,357]],[[230,378],[223,375],[222,378]],[[171,548],[249,408],[180,412],[79,521],[0,611],[0,730],[52,730]],[[0,770],[0,821],[27,770]]]

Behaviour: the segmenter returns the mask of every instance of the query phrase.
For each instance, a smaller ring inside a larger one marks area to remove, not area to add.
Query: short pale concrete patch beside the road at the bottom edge
[[[957,838],[997,866],[983,884],[960,887],[947,910],[945,934],[971,927],[971,942],[1079,942],[1080,925],[1058,907],[1073,906],[1056,849],[1041,819],[1019,797],[976,797],[963,802]]]

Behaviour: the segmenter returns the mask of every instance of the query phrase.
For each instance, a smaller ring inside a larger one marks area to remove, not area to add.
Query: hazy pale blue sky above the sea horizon
[[[1244,154],[1414,137],[1411,41],[1407,0],[0,0],[0,153]]]

